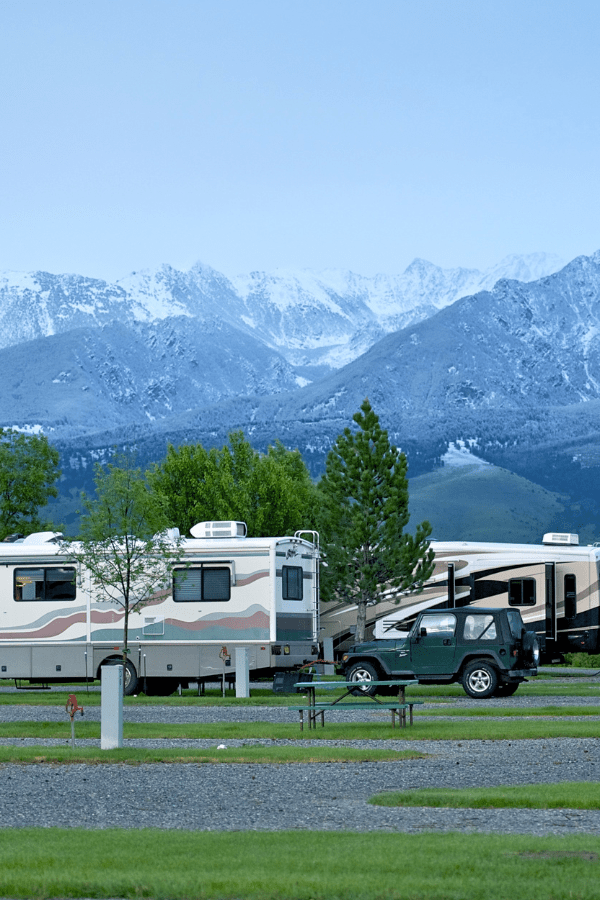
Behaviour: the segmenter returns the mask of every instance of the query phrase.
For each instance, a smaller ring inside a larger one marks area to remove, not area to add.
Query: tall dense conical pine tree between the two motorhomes
[[[324,600],[356,604],[356,640],[364,640],[367,606],[388,588],[418,591],[433,571],[429,522],[405,534],[407,462],[365,400],[327,456],[319,482],[324,498]]]

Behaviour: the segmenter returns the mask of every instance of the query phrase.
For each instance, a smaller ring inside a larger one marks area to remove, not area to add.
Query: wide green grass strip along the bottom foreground
[[[24,828],[0,831],[0,895],[596,900],[599,857],[590,835]]]

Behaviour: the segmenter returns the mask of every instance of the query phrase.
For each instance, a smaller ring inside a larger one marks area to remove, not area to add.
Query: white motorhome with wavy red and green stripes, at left
[[[254,673],[318,658],[315,532],[248,538],[244,523],[203,522],[192,535],[171,590],[130,613],[126,693],[171,693],[230,674],[236,648],[246,648]],[[61,537],[0,543],[0,678],[92,681],[122,659],[124,611],[93,589]]]

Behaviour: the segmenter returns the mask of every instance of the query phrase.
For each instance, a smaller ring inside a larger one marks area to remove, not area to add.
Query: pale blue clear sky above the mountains
[[[600,248],[600,4],[2,0],[0,271]]]

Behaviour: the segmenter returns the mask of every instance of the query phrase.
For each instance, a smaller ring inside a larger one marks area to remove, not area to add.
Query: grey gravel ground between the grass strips
[[[80,698],[80,702],[82,699]],[[294,700],[291,700],[293,703]],[[485,701],[498,710],[552,705],[586,706],[596,697]],[[427,704],[433,706],[434,704]],[[483,705],[467,698],[436,704],[454,709]],[[85,702],[84,702],[85,706]],[[377,713],[376,713],[377,714]],[[361,710],[343,714],[363,716]],[[367,715],[373,715],[369,712]],[[285,707],[126,707],[127,722],[289,722]],[[99,720],[100,709],[86,717]],[[341,720],[337,716],[336,720]],[[60,707],[0,707],[0,721],[65,721]],[[600,730],[600,726],[599,726]],[[3,739],[2,744],[65,741]],[[216,747],[215,740],[126,741],[126,746]],[[228,747],[294,744],[226,740]],[[99,741],[78,741],[98,746]],[[453,831],[600,834],[600,811],[385,809],[369,797],[384,790],[591,781],[600,777],[595,738],[535,741],[302,741],[303,746],[416,749],[426,759],[373,763],[290,765],[4,765],[0,790],[3,826],[168,828],[199,831],[282,829]]]

